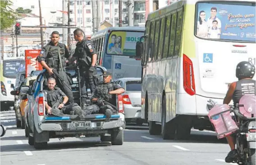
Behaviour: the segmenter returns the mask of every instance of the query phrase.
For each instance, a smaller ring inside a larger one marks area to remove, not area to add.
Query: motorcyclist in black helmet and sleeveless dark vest
[[[239,100],[243,95],[254,94],[256,81],[253,80],[253,76],[255,74],[255,66],[247,61],[239,62],[236,68],[236,77],[238,81],[233,82],[229,86],[229,90],[224,98],[223,104],[229,104],[231,100],[233,100],[234,106],[239,103]],[[237,151],[235,149],[235,139],[233,135],[229,135],[226,137],[231,151],[228,156],[225,158],[227,163],[231,163],[234,161],[234,158],[237,155]]]

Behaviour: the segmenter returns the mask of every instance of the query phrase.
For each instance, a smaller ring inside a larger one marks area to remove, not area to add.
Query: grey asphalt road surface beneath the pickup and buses
[[[14,111],[0,113],[7,132],[0,139],[1,165],[225,165],[229,146],[210,131],[192,130],[188,141],[163,140],[134,126],[124,130],[122,146],[100,138],[50,139],[48,149],[35,150],[24,130],[15,126]]]

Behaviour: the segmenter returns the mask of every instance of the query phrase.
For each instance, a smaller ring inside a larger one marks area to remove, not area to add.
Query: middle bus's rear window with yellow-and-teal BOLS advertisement
[[[144,32],[112,31],[107,43],[107,54],[135,56],[136,42],[140,41]]]

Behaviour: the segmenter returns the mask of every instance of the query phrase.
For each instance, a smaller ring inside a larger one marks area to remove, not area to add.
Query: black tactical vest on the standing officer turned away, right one
[[[87,40],[82,40],[82,43],[78,43],[75,54],[78,56],[78,65],[80,69],[86,69],[91,66],[91,57],[87,56],[88,53],[86,49]]]

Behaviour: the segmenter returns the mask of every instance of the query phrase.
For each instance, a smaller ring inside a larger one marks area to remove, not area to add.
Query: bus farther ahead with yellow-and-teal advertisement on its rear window
[[[144,31],[143,27],[110,27],[91,36],[97,63],[112,72],[113,80],[141,78],[142,63],[135,58],[135,49]]]

